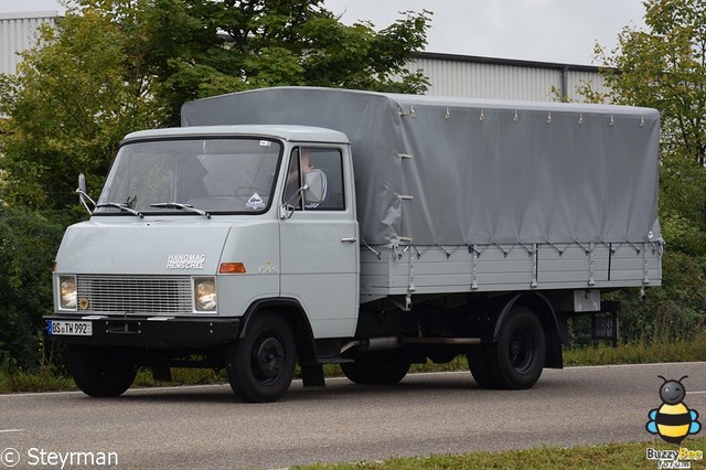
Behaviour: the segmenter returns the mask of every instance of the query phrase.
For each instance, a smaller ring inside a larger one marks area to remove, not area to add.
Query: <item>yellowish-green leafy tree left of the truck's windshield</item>
[[[152,78],[131,63],[131,43],[109,17],[87,8],[56,30],[43,28],[18,75],[0,76],[0,113],[10,116],[0,124],[0,199],[28,207],[75,204],[78,173],[98,186],[120,138],[161,122]]]

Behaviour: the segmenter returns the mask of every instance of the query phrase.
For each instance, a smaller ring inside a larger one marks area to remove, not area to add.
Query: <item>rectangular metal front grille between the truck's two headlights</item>
[[[78,309],[90,313],[193,313],[189,276],[76,276]]]

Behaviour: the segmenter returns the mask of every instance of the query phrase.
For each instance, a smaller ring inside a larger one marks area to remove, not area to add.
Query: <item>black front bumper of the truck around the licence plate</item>
[[[90,322],[90,335],[56,334],[52,321]],[[94,346],[211,348],[237,339],[239,318],[44,317],[45,331],[55,341]]]

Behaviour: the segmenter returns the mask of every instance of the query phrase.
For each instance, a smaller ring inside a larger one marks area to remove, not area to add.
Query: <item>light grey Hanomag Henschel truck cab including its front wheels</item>
[[[69,343],[88,395],[122,393],[139,365],[199,365],[247,375],[233,383],[248,400],[276,399],[295,357],[313,360],[312,338],[353,337],[357,238],[341,132],[133,132],[90,220],[64,236],[47,332]],[[245,337],[255,350],[233,351]]]

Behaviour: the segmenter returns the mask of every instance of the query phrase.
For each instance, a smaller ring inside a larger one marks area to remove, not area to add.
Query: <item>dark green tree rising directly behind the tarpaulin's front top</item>
[[[422,93],[406,64],[426,44],[428,12],[376,32],[344,25],[321,0],[148,0],[145,31],[156,89],[172,109],[186,100],[249,88],[309,85]]]

